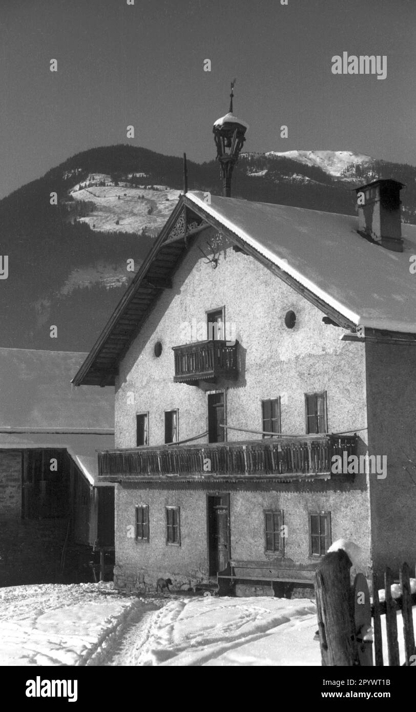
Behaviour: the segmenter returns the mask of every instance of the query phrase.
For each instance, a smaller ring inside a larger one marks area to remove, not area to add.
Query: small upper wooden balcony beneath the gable
[[[218,377],[236,379],[237,345],[227,341],[197,341],[173,346],[175,353],[175,383],[197,385],[199,380],[216,381]]]

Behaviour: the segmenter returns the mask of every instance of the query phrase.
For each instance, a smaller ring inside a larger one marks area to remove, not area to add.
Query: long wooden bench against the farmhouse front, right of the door
[[[232,559],[224,571],[218,572],[217,584],[220,592],[224,592],[224,584],[227,581],[229,588],[236,581],[265,581],[269,582],[271,587],[274,582],[313,586],[317,567],[318,563],[297,564],[288,558],[271,561],[237,561]]]

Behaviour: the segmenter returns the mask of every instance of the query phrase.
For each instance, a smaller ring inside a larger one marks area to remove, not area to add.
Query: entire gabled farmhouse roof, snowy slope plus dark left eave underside
[[[363,239],[355,216],[214,195],[208,204],[202,192],[187,192],[74,384],[114,383],[118,362],[160,294],[162,285],[152,288],[152,279],[169,280],[187,249],[184,222],[188,236],[207,224],[215,226],[345,328],[416,334],[416,275],[409,271],[416,226],[402,226],[405,251],[397,253]]]

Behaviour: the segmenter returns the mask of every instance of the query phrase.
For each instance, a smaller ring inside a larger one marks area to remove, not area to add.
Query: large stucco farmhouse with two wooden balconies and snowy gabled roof
[[[400,225],[401,189],[357,189],[358,218],[180,197],[73,379],[115,385],[98,478],[116,487],[118,587],[194,585],[234,559],[311,564],[338,538],[368,569],[414,560],[416,227]],[[192,320],[206,340],[181,340]],[[236,342],[209,339],[213,323]],[[387,475],[331,472],[344,453],[386,456]]]

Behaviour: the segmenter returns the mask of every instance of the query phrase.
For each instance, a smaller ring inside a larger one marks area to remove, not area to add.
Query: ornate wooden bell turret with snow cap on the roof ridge
[[[232,172],[239,159],[239,152],[246,140],[246,130],[249,128],[245,121],[237,119],[232,112],[234,82],[231,84],[231,94],[229,95],[229,112],[217,119],[212,128],[215,145],[217,146],[217,159],[221,164],[222,194],[226,198],[231,197]]]

